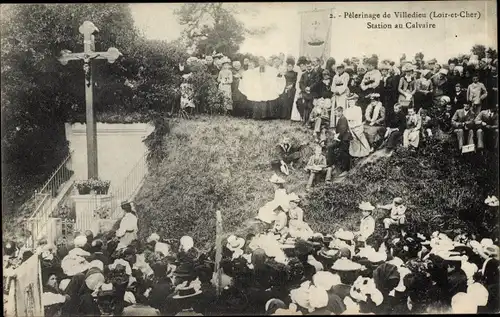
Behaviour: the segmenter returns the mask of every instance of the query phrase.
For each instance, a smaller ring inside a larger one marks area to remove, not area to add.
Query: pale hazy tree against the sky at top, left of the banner
[[[191,47],[193,53],[203,55],[216,51],[233,57],[245,35],[263,35],[273,28],[273,25],[245,28],[236,16],[249,10],[237,4],[186,3],[175,13],[179,23],[185,26],[186,47]]]

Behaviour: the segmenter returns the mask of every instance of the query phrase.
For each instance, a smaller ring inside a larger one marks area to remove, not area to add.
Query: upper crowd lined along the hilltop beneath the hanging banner
[[[326,181],[334,166],[342,173],[376,149],[415,150],[441,133],[455,135],[462,153],[498,149],[497,59],[460,55],[439,64],[417,53],[399,64],[373,55],[323,65],[281,53],[242,62],[214,54],[202,62],[233,115],[309,125],[327,158],[309,170],[326,171]]]

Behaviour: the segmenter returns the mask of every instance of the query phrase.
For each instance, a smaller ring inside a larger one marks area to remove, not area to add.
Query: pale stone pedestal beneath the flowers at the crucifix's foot
[[[94,211],[102,206],[110,206],[112,195],[74,195],[76,223],[75,231],[84,233],[92,230],[94,236],[99,233],[99,218],[94,217]]]

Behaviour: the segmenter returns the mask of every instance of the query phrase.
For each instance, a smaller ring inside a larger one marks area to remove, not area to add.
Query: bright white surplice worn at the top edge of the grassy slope
[[[274,67],[266,66],[263,73],[256,67],[245,72],[238,88],[250,101],[275,100],[285,89],[285,77],[278,77]]]

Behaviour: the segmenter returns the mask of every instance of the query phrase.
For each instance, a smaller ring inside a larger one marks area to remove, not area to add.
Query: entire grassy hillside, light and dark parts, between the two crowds
[[[273,197],[269,162],[285,134],[297,142],[312,141],[310,130],[289,121],[172,120],[162,145],[168,156],[136,197],[142,211],[141,234],[157,232],[168,238],[188,234],[200,247],[208,247],[215,240],[216,208],[222,211],[225,233],[243,234],[251,226],[248,220]],[[305,220],[313,230],[325,233],[339,227],[355,229],[360,201],[386,204],[401,196],[407,201],[412,230],[484,231],[481,222],[491,227],[496,220],[483,217],[483,201],[498,192],[497,180],[491,177],[497,173],[498,160],[494,155],[455,155],[449,142],[436,141],[418,153],[400,149],[389,157],[372,154],[345,179],[310,193],[303,202]],[[302,164],[311,154],[312,145],[303,151]],[[304,193],[307,173],[302,168],[285,178],[288,192]]]

